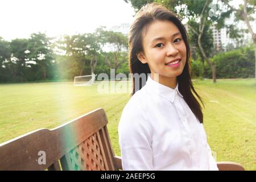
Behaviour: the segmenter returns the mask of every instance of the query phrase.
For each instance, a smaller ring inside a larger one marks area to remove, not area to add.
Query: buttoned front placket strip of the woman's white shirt
[[[185,132],[187,133],[187,135],[189,137],[189,144],[190,144],[189,151],[191,152],[192,167],[199,168],[198,156],[196,154],[196,146],[195,146],[195,142],[193,141],[192,131],[188,125],[188,120],[187,120],[187,115],[185,113],[185,110],[177,97],[178,97],[177,93],[175,93],[174,105],[175,105],[177,114],[179,115],[179,117],[181,119],[181,123],[184,126]]]

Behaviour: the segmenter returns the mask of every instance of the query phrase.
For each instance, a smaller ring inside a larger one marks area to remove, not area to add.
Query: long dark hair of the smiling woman
[[[147,28],[150,23],[154,22],[154,20],[168,20],[174,23],[185,42],[185,46],[187,48],[187,60],[181,75],[177,76],[177,82],[179,82],[179,91],[183,95],[185,102],[187,102],[188,106],[192,110],[192,112],[196,115],[197,119],[199,119],[200,123],[203,123],[203,113],[202,108],[196,97],[201,101],[203,101],[199,94],[196,93],[195,88],[193,87],[191,81],[191,52],[189,48],[188,42],[188,34],[185,30],[185,27],[177,18],[177,16],[168,10],[166,7],[159,5],[158,3],[150,3],[144,5],[141,10],[135,16],[134,22],[130,26],[129,31],[129,69],[131,75],[138,73],[144,73],[148,76],[150,73],[150,68],[148,64],[143,64],[138,60],[137,53],[143,51],[142,47],[142,32],[144,28]],[[142,88],[143,82],[139,80],[139,89]],[[135,78],[133,77],[133,92],[131,96],[136,92],[135,90]],[[196,97],[193,95],[196,95]],[[203,104],[204,105],[204,104]]]

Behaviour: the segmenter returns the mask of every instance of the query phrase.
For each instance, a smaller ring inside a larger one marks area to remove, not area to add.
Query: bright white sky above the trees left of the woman
[[[93,32],[133,21],[134,10],[123,0],[0,0],[0,36],[28,38]]]

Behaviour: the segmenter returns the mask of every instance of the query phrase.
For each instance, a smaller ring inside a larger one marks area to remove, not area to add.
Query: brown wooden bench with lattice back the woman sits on
[[[0,170],[122,170],[110,143],[108,118],[97,109],[55,129],[39,129],[0,144]],[[220,162],[220,170],[244,170]]]

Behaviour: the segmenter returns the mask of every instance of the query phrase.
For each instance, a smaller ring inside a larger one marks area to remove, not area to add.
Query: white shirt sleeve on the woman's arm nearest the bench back
[[[141,109],[125,107],[118,125],[122,167],[128,170],[154,170],[151,136]]]

